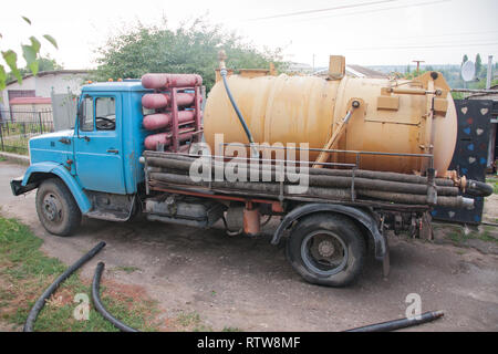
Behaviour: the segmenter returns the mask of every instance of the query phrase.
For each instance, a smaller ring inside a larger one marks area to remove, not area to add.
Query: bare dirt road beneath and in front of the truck
[[[496,254],[393,237],[388,280],[370,259],[353,287],[321,288],[302,281],[268,235],[255,240],[230,238],[220,228],[84,220],[76,236],[53,237],[38,220],[34,192],[10,192],[9,180],[23,171],[0,163],[0,212],[29,225],[44,240],[43,251],[66,263],[106,241],[83,277],[90,279],[96,262],[105,261],[114,269],[105,277],[142,287],[158,301],[165,323],[197,313],[215,331],[341,331],[403,317],[406,296],[418,293],[423,311],[445,310],[446,316],[412,331],[498,331]]]

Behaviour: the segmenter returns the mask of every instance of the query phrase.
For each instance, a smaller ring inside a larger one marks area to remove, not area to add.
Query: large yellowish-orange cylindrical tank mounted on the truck
[[[449,87],[439,73],[413,81],[359,79],[344,75],[255,75],[242,71],[228,77],[229,87],[256,143],[309,143],[324,148],[334,132],[334,149],[434,154],[434,168],[444,176],[452,160],[457,116]],[[342,121],[352,107],[347,125]],[[225,143],[248,139],[221,81],[212,87],[205,108],[205,139],[215,148],[215,134]],[[318,154],[310,154],[314,160]],[[355,163],[354,154],[336,153],[329,160]],[[428,159],[364,155],[360,168],[405,174],[421,173]]]

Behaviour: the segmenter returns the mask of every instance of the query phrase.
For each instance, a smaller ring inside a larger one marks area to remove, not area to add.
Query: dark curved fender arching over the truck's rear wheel
[[[289,212],[280,222],[279,227],[274,231],[273,238],[271,239],[272,244],[278,244],[283,231],[287,230],[292,222],[295,220],[311,214],[330,211],[345,215],[365,227],[369,231],[369,236],[372,237],[375,244],[375,258],[380,261],[384,260],[386,256],[386,243],[384,237],[378,231],[377,222],[374,217],[359,208],[335,205],[335,204],[308,204],[301,207],[297,207],[291,212]]]

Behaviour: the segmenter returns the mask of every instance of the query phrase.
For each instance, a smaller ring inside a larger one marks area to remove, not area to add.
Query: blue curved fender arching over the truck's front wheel
[[[22,178],[22,187],[25,187],[30,183],[32,183],[30,178],[31,176],[33,176],[33,174],[53,174],[58,176],[68,186],[69,190],[74,197],[74,200],[76,200],[81,212],[86,214],[92,209],[92,204],[90,202],[89,197],[86,197],[85,192],[83,191],[83,188],[81,188],[76,179],[69,173],[68,169],[65,169],[63,165],[49,162],[31,165],[25,171],[24,177]]]

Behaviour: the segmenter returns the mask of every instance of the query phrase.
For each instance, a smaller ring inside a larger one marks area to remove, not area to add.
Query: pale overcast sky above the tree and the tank
[[[28,17],[32,24],[25,23]],[[30,35],[65,69],[96,66],[96,49],[137,21],[174,29],[206,18],[236,31],[258,49],[282,48],[284,60],[328,66],[329,55],[349,64],[459,64],[464,54],[498,60],[497,0],[22,0],[0,4],[0,49],[18,49]],[[21,62],[22,63],[22,62]]]

